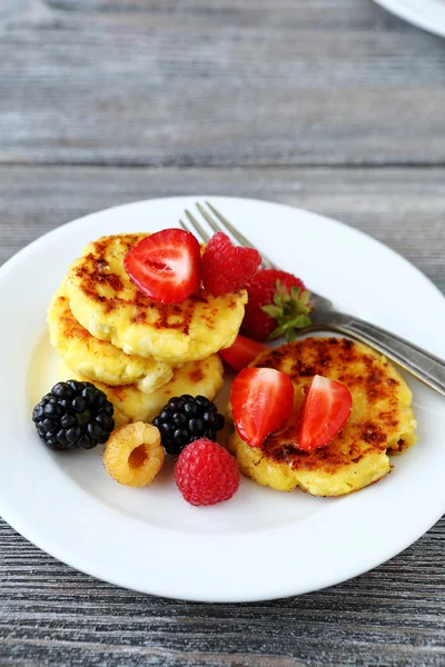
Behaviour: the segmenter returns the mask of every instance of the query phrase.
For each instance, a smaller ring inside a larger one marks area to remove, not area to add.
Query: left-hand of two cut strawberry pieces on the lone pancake
[[[289,418],[294,387],[289,376],[280,370],[245,368],[231,386],[230,402],[243,440],[250,447],[260,447]]]

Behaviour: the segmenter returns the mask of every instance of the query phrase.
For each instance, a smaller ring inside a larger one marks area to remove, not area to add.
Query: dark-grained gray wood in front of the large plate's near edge
[[[134,594],[57,563],[4,524],[0,536],[1,665],[445,661],[444,519],[373,573],[300,598],[249,605]]]

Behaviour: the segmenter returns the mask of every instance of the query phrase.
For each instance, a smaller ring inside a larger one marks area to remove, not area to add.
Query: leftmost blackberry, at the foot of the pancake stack
[[[92,449],[115,428],[113,407],[91,382],[58,382],[32,412],[37,432],[55,451]]]

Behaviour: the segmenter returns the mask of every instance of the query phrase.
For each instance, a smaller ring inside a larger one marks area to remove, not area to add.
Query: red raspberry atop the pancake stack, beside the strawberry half
[[[222,231],[214,235],[202,255],[202,283],[215,297],[238,291],[258,270],[261,256],[234,246]]]

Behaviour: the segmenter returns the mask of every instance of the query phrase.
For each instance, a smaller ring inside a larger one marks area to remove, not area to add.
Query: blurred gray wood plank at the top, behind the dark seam
[[[444,83],[367,0],[7,2],[0,161],[443,165]]]

